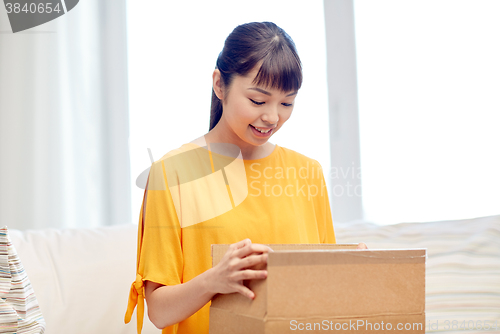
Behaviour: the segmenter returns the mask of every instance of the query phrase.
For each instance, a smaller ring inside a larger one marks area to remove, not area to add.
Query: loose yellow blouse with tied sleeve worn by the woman
[[[137,275],[125,322],[144,317],[145,280],[189,281],[211,268],[211,245],[335,243],[321,165],[275,145],[267,157],[242,160],[189,143],[153,163],[139,218]],[[145,205],[145,215],[143,210]],[[144,220],[143,220],[144,218]],[[210,302],[163,334],[208,334]]]

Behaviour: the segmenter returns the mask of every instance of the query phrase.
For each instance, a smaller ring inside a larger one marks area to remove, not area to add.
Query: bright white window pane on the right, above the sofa
[[[500,1],[356,0],[365,218],[500,214]]]

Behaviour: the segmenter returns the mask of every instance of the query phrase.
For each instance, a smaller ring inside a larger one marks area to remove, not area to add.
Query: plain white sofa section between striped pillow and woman
[[[38,298],[46,333],[137,333],[135,323],[124,322],[135,277],[137,225],[9,232]],[[144,320],[143,333],[160,332]]]

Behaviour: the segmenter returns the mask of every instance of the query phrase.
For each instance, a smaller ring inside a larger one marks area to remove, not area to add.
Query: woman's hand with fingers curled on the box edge
[[[264,279],[267,270],[249,269],[252,267],[265,268],[267,253],[273,250],[261,244],[252,244],[245,239],[229,246],[220,262],[212,268],[208,287],[215,293],[238,292],[250,299],[255,293],[243,285],[243,280]]]

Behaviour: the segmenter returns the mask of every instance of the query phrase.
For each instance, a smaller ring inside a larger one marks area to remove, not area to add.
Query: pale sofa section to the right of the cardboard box
[[[353,221],[335,224],[335,233],[338,243],[362,241],[372,249],[427,248],[429,332],[448,324],[446,333],[473,333],[473,323],[484,328],[485,321],[500,332],[500,216],[386,226]]]

